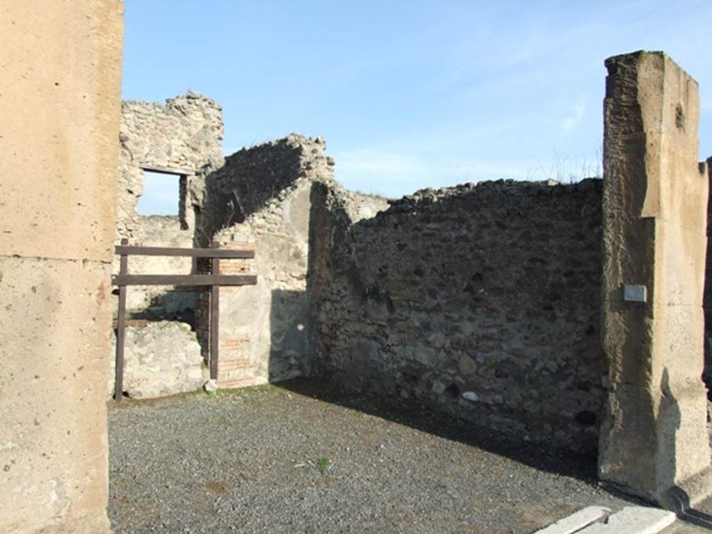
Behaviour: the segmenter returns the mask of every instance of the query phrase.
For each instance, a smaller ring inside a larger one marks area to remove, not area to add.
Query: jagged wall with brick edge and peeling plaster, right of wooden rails
[[[201,234],[221,248],[256,251],[254,260],[222,260],[221,273],[258,276],[256,286],[221,288],[221,387],[310,372],[310,194],[313,184],[333,179],[333,161],[324,150],[323,140],[289,135],[236,152],[207,181]],[[199,322],[203,336],[205,319]]]

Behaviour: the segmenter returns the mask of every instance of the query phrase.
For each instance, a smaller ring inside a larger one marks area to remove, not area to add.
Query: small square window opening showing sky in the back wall
[[[168,172],[143,173],[143,194],[138,199],[137,214],[177,216],[181,229],[187,229],[185,216],[187,176]]]

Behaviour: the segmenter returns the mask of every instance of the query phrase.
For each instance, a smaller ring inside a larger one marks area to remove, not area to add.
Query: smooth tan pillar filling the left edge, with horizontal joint
[[[108,533],[122,2],[2,2],[0,50],[0,532]]]

